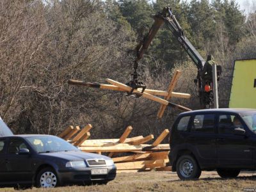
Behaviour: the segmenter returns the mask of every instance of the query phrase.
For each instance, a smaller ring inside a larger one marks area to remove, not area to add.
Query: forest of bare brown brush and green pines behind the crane
[[[0,116],[16,134],[59,134],[85,124],[93,125],[92,138],[118,138],[127,125],[134,136],[169,129],[180,111],[157,119],[156,102],[67,83],[128,82],[138,36],[166,5],[203,58],[212,54],[222,66],[220,107],[228,107],[234,60],[256,58],[256,8],[245,15],[233,0],[1,0]],[[140,79],[157,90],[181,70],[174,91],[192,97],[172,102],[199,108],[197,69],[166,27],[139,68]]]

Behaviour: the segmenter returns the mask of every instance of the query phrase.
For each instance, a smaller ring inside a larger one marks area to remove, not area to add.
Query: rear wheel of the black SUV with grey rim
[[[190,155],[180,156],[176,164],[176,169],[179,178],[182,180],[197,179],[202,172],[195,158]]]

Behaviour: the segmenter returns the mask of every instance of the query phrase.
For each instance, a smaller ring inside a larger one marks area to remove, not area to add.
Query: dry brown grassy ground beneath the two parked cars
[[[14,191],[4,188],[0,191]],[[26,191],[256,191],[256,172],[240,173],[236,179],[221,179],[216,172],[202,172],[200,179],[182,181],[172,172],[118,173],[107,185],[67,186]]]

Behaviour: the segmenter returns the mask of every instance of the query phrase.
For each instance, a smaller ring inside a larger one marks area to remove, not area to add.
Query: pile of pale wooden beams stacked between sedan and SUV
[[[84,152],[96,152],[112,157],[118,172],[141,171],[170,171],[168,154],[169,144],[161,144],[168,136],[168,129],[154,140],[154,135],[136,136],[128,138],[132,127],[128,126],[119,139],[88,140],[92,125],[88,124],[83,129],[79,126],[70,126],[59,135],[60,138],[69,141]],[[153,141],[154,140],[154,141]],[[152,144],[147,144],[150,142]]]

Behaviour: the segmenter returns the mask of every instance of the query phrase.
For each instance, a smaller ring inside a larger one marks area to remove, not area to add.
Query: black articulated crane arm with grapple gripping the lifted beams
[[[156,36],[157,31],[163,24],[166,24],[168,28],[172,31],[173,36],[178,40],[180,45],[185,49],[188,53],[189,58],[195,63],[196,67],[198,68],[198,74],[196,77],[196,83],[198,83],[198,90],[199,90],[199,97],[200,97],[200,105],[201,108],[206,108],[209,105],[210,100],[212,101],[212,95],[210,93],[204,92],[202,81],[204,81],[202,74],[202,68],[204,67],[205,60],[196,51],[195,47],[189,42],[188,38],[184,35],[183,29],[180,27],[179,22],[177,22],[175,15],[173,15],[171,8],[165,7],[163,12],[159,12],[153,16],[154,23],[152,27],[148,31],[147,35],[144,36],[143,40],[139,42],[136,47],[136,59],[134,60],[134,72],[132,74],[133,80],[127,83],[127,85],[132,86],[132,88],[141,88],[141,84],[145,86],[141,81],[138,81],[138,61],[141,60],[143,54],[148,49],[148,46],[152,42],[154,36]],[[145,89],[145,88],[144,88]],[[132,93],[132,92],[131,92]]]

